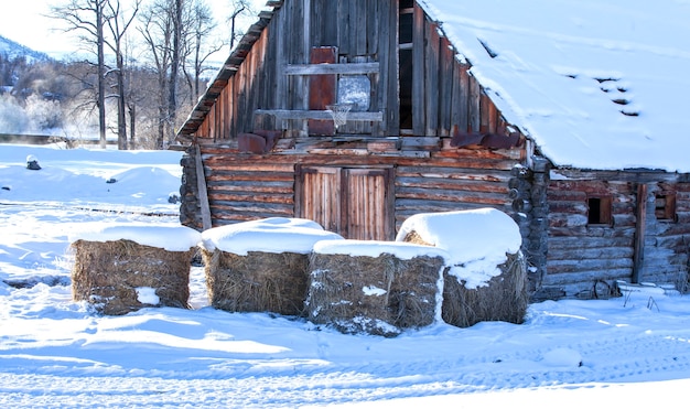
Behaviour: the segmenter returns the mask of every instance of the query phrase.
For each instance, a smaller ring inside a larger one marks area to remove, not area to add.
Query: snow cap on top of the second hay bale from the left
[[[343,237],[324,230],[316,222],[285,217],[237,223],[202,233],[205,249],[218,248],[239,256],[248,251],[310,254],[316,241],[337,239]]]

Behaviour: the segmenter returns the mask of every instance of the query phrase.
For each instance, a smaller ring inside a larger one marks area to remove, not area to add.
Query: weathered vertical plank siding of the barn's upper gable
[[[416,2],[273,3],[273,12],[252,25],[211,83],[181,136],[218,143],[255,129],[282,130],[292,137],[322,134],[323,127],[312,130],[309,120],[330,120],[330,115],[322,107],[326,101],[319,108],[310,104],[312,88],[320,87],[331,99],[337,90],[324,90],[323,82],[312,79],[331,77],[334,80],[326,84],[337,87],[336,78],[360,72],[370,82],[370,104],[366,112],[351,112],[339,134],[507,133],[507,123],[471,75],[470,64],[456,58],[450,41]],[[407,15],[411,24],[401,25]],[[323,67],[310,64],[313,50],[322,47],[335,51],[339,65],[335,74],[316,73]],[[401,98],[407,100],[403,106]],[[401,123],[402,115],[410,122]]]

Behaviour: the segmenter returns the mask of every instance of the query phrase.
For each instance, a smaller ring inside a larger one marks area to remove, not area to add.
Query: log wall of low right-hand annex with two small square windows
[[[604,297],[616,280],[687,287],[687,175],[558,171],[538,298]]]

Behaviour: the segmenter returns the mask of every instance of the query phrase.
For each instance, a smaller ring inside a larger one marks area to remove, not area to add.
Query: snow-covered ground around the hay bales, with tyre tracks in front
[[[29,154],[43,169],[25,169]],[[532,304],[522,325],[436,324],[395,338],[214,310],[198,267],[192,310],[99,316],[73,302],[71,233],[177,225],[168,200],[180,155],[0,146],[0,407],[647,408],[688,399],[690,298],[658,289]]]

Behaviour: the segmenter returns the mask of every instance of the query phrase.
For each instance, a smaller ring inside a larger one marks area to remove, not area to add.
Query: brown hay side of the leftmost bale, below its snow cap
[[[72,247],[75,301],[88,301],[108,315],[144,306],[187,308],[193,249],[168,251],[127,239],[77,240]]]

